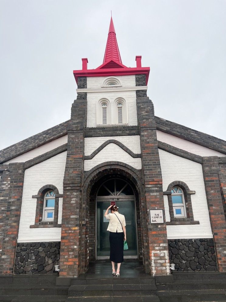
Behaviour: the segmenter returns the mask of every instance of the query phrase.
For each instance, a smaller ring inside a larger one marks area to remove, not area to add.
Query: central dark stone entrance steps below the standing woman
[[[160,302],[155,278],[72,279],[66,302]]]

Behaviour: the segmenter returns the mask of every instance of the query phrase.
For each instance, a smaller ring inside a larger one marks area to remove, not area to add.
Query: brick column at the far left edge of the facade
[[[12,275],[19,219],[22,204],[24,164],[9,164],[9,171],[3,172],[0,183],[1,204],[1,260],[0,275]]]

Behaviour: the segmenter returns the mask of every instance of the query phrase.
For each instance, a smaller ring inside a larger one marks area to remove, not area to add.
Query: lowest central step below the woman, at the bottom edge
[[[158,296],[69,297],[66,302],[160,302]]]

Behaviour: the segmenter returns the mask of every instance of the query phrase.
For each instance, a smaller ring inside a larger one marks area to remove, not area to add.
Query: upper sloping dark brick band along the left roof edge
[[[25,152],[31,151],[68,133],[69,121],[51,127],[0,151],[0,163],[9,161]]]

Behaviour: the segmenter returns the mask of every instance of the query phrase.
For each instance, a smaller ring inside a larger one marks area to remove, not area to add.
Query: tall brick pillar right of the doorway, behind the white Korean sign
[[[154,117],[154,106],[147,97],[137,97],[137,117],[141,138],[141,161],[144,179],[148,222],[149,268],[152,275],[168,275],[169,257],[166,224],[150,224],[149,209],[163,209],[162,172],[158,154],[158,141]],[[164,211],[165,221],[165,211]]]

